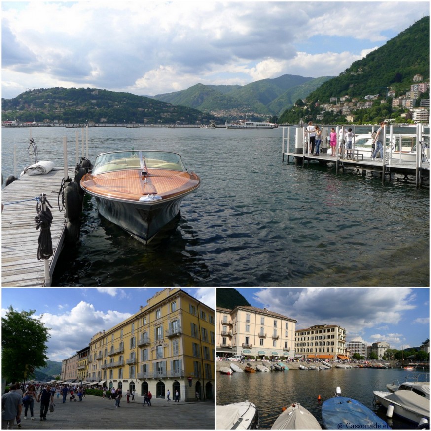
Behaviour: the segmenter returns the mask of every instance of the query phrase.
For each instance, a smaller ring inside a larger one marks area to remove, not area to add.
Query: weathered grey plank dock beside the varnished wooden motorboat
[[[36,230],[36,198],[42,193],[53,207],[51,237],[53,256],[48,259],[52,278],[65,236],[64,211],[57,204],[64,170],[46,175],[25,174],[2,190],[1,202],[1,286],[49,286],[45,282],[43,260],[37,259],[40,229]],[[52,192],[55,192],[53,194]]]

